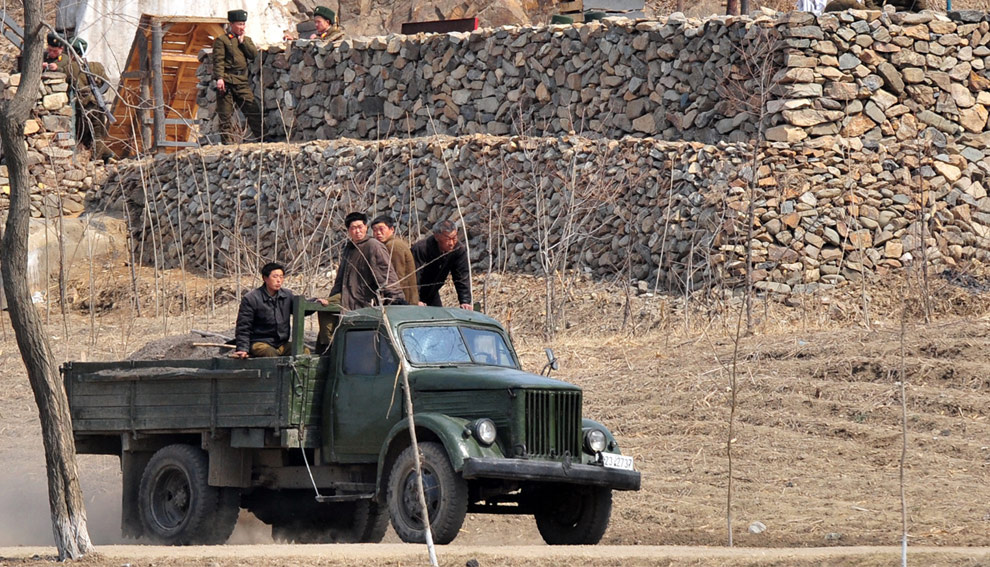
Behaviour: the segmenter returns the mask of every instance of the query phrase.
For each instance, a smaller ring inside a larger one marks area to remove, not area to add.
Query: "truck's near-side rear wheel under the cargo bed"
[[[240,491],[208,482],[207,454],[189,445],[159,449],[141,475],[138,514],[144,535],[162,545],[217,545],[227,541]]]

